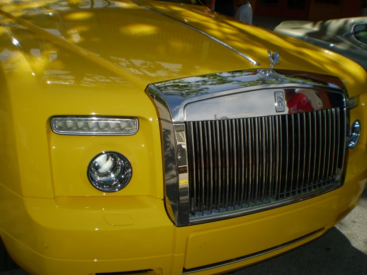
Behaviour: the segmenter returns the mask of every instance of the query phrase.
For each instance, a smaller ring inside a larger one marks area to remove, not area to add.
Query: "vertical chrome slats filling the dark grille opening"
[[[341,184],[346,111],[186,123],[190,216],[250,209]]]

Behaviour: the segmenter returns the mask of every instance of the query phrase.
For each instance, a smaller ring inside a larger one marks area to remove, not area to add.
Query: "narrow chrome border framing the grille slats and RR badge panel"
[[[312,81],[311,81],[312,82]],[[342,83],[342,82],[341,82]],[[339,83],[338,83],[339,84]],[[180,104],[173,106],[172,102],[170,102],[169,97],[167,97],[167,94],[162,92],[158,85],[149,85],[147,87],[147,94],[151,98],[152,102],[154,103],[158,117],[159,117],[159,123],[161,127],[161,131],[165,131],[165,129],[171,130],[171,135],[169,137],[164,138],[162,140],[162,146],[163,146],[163,154],[165,155],[166,149],[168,148],[168,151],[170,151],[175,156],[175,162],[174,162],[174,169],[170,169],[168,166],[171,165],[170,162],[167,161],[167,159],[164,158],[164,171],[165,171],[165,179],[164,179],[164,190],[165,190],[165,204],[167,213],[174,222],[176,226],[188,226],[188,225],[194,225],[194,224],[200,224],[205,222],[212,222],[212,221],[218,221],[228,218],[234,218],[239,216],[244,216],[248,214],[253,214],[257,212],[261,212],[264,210],[269,210],[281,206],[287,206],[296,202],[301,202],[316,196],[320,196],[322,194],[325,194],[327,192],[330,192],[332,190],[340,188],[345,180],[345,172],[346,172],[346,165],[347,165],[347,159],[348,159],[348,146],[347,142],[349,137],[345,138],[345,145],[344,145],[344,169],[342,171],[340,183],[338,185],[334,185],[328,188],[323,188],[318,190],[317,192],[312,192],[310,194],[301,195],[298,197],[293,197],[289,199],[284,199],[282,201],[278,201],[275,203],[271,203],[269,205],[262,205],[257,206],[254,208],[244,208],[236,211],[231,212],[223,212],[218,213],[215,215],[209,215],[209,216],[200,216],[191,218],[189,217],[190,213],[190,206],[189,206],[189,184],[185,181],[180,181],[180,174],[179,173],[179,162],[178,162],[178,149],[177,144],[179,143],[177,140],[176,133],[177,131],[185,133],[185,119],[176,120],[179,118],[184,118],[184,106],[191,102],[200,101],[203,99],[218,97],[222,95],[231,95],[235,93],[245,93],[248,91],[256,91],[261,89],[270,89],[270,88],[282,88],[282,87],[302,87],[302,88],[308,88],[308,89],[322,89],[322,90],[329,90],[329,91],[336,91],[339,93],[342,93],[345,98],[345,103],[348,102],[348,94],[347,90],[344,85],[339,84],[336,85],[335,82],[331,85],[326,84],[320,84],[320,83],[289,83],[289,82],[282,82],[282,83],[262,83],[261,85],[258,85],[256,87],[245,87],[245,88],[239,88],[234,90],[225,90],[225,91],[219,91],[215,92],[213,94],[206,94],[203,96],[190,96],[190,97],[183,97],[181,99]],[[179,109],[180,115],[174,115],[173,110]],[[345,114],[345,122],[346,122],[346,134],[348,133],[349,129],[349,108],[347,104],[344,106],[344,114]],[[184,143],[186,143],[186,137],[184,135]],[[170,145],[167,146],[166,140],[171,140]],[[172,142],[174,140],[174,142]],[[186,145],[186,144],[185,144]],[[182,149],[182,148],[181,148]],[[187,151],[185,154],[186,157],[186,164],[187,164]],[[187,168],[188,169],[188,168]],[[169,176],[169,173],[167,171],[170,171],[171,173],[176,171],[176,175],[172,177]],[[186,173],[188,174],[188,171],[186,170]]]

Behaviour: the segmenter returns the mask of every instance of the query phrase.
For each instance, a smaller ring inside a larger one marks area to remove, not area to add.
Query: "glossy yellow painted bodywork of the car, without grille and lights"
[[[127,0],[110,1],[113,4],[103,8],[77,1],[65,6],[54,0],[1,6],[5,18],[0,19],[0,234],[23,269],[30,275],[144,269],[182,274],[183,268],[244,256],[320,228],[326,232],[358,202],[367,179],[365,127],[361,142],[349,152],[342,188],[249,216],[174,227],[164,205],[160,130],[145,93],[147,84],[267,68],[270,49],[281,53],[279,68],[336,75],[350,96],[363,93],[351,119],[366,125],[367,74],[341,56],[204,7],[138,1],[186,19],[261,66]],[[137,117],[140,129],[128,137],[62,136],[50,129],[50,118],[56,115]],[[86,177],[89,161],[104,150],[119,151],[132,163],[132,181],[116,193],[94,189]],[[202,274],[262,261],[317,236]]]

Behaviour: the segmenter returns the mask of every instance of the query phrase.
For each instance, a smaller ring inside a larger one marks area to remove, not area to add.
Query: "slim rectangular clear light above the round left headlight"
[[[56,134],[90,136],[128,136],[138,132],[137,118],[53,117],[51,127]]]

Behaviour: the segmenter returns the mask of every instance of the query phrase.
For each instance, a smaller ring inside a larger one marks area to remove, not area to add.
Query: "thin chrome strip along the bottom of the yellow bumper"
[[[269,248],[269,249],[266,249],[266,250],[263,250],[263,251],[260,251],[260,252],[257,252],[257,253],[253,253],[253,254],[250,254],[250,255],[247,255],[247,256],[238,257],[238,258],[235,258],[233,260],[228,260],[228,261],[224,261],[224,262],[220,262],[220,263],[216,263],[216,264],[212,264],[212,265],[208,265],[208,266],[204,266],[204,267],[199,267],[199,268],[193,268],[193,269],[188,269],[188,270],[184,269],[182,274],[191,274],[191,273],[196,273],[196,272],[201,272],[201,271],[207,271],[207,270],[211,270],[211,269],[231,265],[231,264],[234,264],[234,263],[239,263],[239,262],[242,262],[242,261],[246,261],[246,260],[261,256],[261,255],[265,255],[265,254],[277,251],[279,249],[291,246],[295,243],[304,241],[304,240],[306,240],[306,239],[308,239],[312,236],[315,236],[315,235],[321,233],[324,230],[325,230],[325,228],[321,228],[319,230],[313,231],[313,232],[311,232],[307,235],[304,235],[304,236],[302,236],[300,238],[297,238],[293,241],[290,241],[288,243],[285,243],[285,244],[282,244],[282,245],[279,245],[279,246],[276,246],[276,247],[273,247],[273,248]]]

